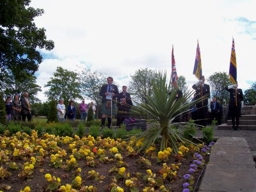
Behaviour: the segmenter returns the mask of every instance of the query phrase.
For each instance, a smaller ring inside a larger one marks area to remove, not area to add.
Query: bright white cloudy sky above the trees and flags
[[[129,85],[140,68],[170,74],[172,45],[177,74],[190,88],[198,81],[197,40],[205,79],[228,73],[234,38],[239,87],[246,90],[256,81],[255,0],[32,0],[30,6],[44,9],[35,23],[55,44],[51,51],[40,50],[44,61],[36,76],[43,102],[56,67],[91,68]]]

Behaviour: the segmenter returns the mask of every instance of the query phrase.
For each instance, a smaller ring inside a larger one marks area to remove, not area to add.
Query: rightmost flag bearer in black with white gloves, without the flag
[[[239,129],[239,117],[241,116],[241,108],[244,107],[243,91],[237,88],[237,84],[226,87],[229,92],[228,117],[232,120],[232,129]]]

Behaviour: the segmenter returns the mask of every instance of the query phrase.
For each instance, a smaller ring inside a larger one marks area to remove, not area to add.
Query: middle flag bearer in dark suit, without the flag
[[[193,84],[192,88],[196,91],[195,100],[206,97],[204,100],[196,103],[196,124],[206,126],[207,111],[211,113],[210,107],[210,86],[204,83],[204,76],[200,77],[200,81]]]

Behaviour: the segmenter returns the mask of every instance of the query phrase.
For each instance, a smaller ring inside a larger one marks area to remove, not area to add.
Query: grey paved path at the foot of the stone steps
[[[196,131],[196,137],[202,137],[202,131]],[[238,137],[245,138],[248,142],[250,150],[256,151],[256,131],[249,130],[240,130],[240,131],[232,131],[232,130],[218,130],[217,127],[214,129],[214,138],[221,137]]]

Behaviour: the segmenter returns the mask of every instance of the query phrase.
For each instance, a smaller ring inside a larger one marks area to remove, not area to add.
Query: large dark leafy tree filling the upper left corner
[[[30,2],[0,1],[0,81],[7,73],[16,77],[33,75],[42,62],[38,49],[54,48],[54,42],[47,40],[45,29],[37,28],[34,22],[44,10],[30,7]]]

